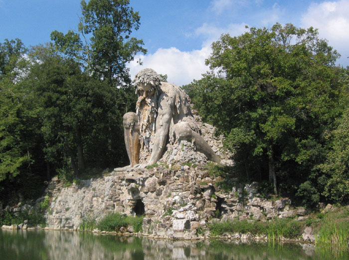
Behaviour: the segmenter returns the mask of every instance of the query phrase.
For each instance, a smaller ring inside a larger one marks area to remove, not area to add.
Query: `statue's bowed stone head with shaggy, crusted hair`
[[[160,81],[161,78],[154,69],[145,68],[136,74],[132,84],[136,86],[136,94],[146,98],[158,95]]]

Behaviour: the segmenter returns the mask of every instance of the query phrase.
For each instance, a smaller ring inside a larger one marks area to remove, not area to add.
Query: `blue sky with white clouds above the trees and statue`
[[[240,35],[245,25],[270,27],[291,22],[319,29],[349,65],[349,0],[130,0],[139,11],[141,26],[134,36],[143,38],[143,66],[129,64],[131,74],[151,67],[168,74],[177,85],[199,79],[210,44],[221,33]],[[50,41],[52,30],[76,29],[80,0],[0,0],[0,42],[21,39],[29,47]]]

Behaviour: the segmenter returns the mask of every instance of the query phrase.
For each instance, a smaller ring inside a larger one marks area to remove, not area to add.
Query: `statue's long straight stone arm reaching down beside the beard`
[[[156,120],[156,133],[153,150],[149,160],[150,165],[159,161],[163,154],[167,136],[169,135],[173,109],[173,98],[164,94],[161,95],[159,97],[158,117]]]

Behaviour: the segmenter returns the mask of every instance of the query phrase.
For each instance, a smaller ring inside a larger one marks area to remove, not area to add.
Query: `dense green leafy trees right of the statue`
[[[213,42],[212,71],[183,88],[225,135],[235,172],[309,206],[348,202],[348,70],[338,56],[312,27],[251,28]]]

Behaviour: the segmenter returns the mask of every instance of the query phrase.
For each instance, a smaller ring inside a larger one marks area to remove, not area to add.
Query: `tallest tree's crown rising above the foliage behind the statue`
[[[129,0],[81,1],[82,15],[78,33],[53,31],[51,39],[57,49],[76,58],[88,72],[108,80],[110,84],[130,83],[126,63],[137,52],[146,53],[143,40],[130,37],[138,30],[140,16],[129,6]],[[82,42],[80,35],[84,38]],[[90,38],[87,38],[91,36]]]

